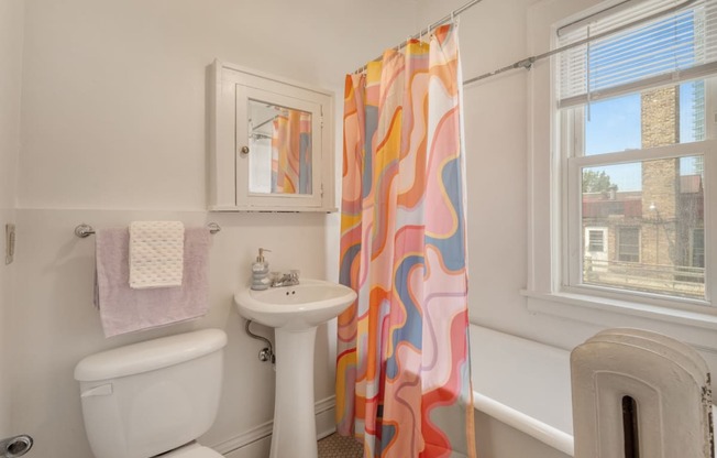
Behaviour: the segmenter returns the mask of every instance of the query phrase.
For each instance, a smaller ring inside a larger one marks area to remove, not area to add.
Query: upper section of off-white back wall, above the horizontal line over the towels
[[[371,21],[376,0],[26,3],[23,208],[205,208],[214,57],[343,90],[401,35]]]

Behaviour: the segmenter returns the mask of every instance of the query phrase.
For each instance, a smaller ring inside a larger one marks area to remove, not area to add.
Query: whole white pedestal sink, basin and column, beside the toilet
[[[275,328],[276,397],[271,458],[317,457],[313,350],[317,326],[356,298],[350,287],[321,280],[234,295],[244,318]]]

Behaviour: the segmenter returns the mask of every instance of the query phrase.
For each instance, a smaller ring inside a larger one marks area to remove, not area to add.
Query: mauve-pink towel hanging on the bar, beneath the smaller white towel
[[[98,230],[96,235],[97,287],[106,337],[199,318],[209,309],[208,228],[185,231],[184,282],[179,287],[130,287],[126,228]]]

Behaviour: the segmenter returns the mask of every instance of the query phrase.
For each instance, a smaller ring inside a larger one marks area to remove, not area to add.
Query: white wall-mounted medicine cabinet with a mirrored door
[[[214,61],[209,209],[335,211],[333,92]]]

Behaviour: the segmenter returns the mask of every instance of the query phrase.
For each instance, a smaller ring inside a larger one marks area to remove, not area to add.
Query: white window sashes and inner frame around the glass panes
[[[602,4],[605,4],[603,2]],[[597,9],[600,6],[596,6]],[[576,15],[588,17],[591,11],[578,12]],[[574,22],[574,17],[554,22],[551,26],[550,43],[554,50],[559,46],[556,31],[566,23]],[[717,121],[717,72],[709,76],[701,76],[697,80],[705,81],[705,139],[698,142],[677,143],[666,146],[648,148],[640,150],[628,150],[621,152],[600,153],[594,155],[583,155],[585,151],[585,109],[586,105],[576,105],[567,108],[560,108],[558,88],[561,85],[561,67],[560,57],[552,59],[550,66],[550,87],[551,90],[551,113],[550,119],[554,126],[554,133],[551,135],[551,151],[555,156],[553,172],[561,177],[556,179],[551,187],[551,200],[559,205],[558,211],[554,212],[553,219],[550,225],[551,240],[561,240],[560,244],[553,243],[552,261],[553,269],[552,275],[552,292],[581,294],[588,296],[596,296],[598,298],[638,302],[650,305],[658,305],[666,308],[683,308],[704,312],[706,308],[712,308],[708,313],[716,314],[714,297],[717,294],[715,291],[715,270],[717,270],[717,262],[715,260],[715,249],[705,250],[705,296],[704,299],[688,298],[681,296],[670,296],[655,293],[646,293],[640,291],[613,288],[606,285],[594,285],[583,283],[583,270],[585,261],[585,240],[582,220],[582,174],[583,167],[613,165],[630,162],[643,162],[659,159],[670,157],[684,157],[693,156],[696,154],[704,155],[704,231],[710,233],[715,225],[712,223],[712,216],[709,204],[714,206],[717,200],[714,198],[714,188],[712,184],[717,183],[715,174],[714,152],[717,146],[715,135]],[[681,85],[687,83],[671,81],[665,86]],[[644,86],[644,87],[641,87]],[[633,84],[631,90],[640,92],[643,90],[654,89],[655,87],[650,84]],[[620,96],[627,94],[620,94]],[[588,95],[587,102],[589,103],[591,97]],[[595,100],[597,101],[597,100]],[[710,122],[712,121],[712,122]],[[708,154],[713,151],[713,154]],[[712,164],[712,166],[709,166]],[[562,236],[562,237],[561,237]],[[617,237],[617,236],[616,236]],[[713,235],[714,238],[714,235]],[[705,239],[707,248],[708,240]],[[616,259],[618,255],[617,238],[616,238]],[[710,277],[713,281],[710,281]]]

